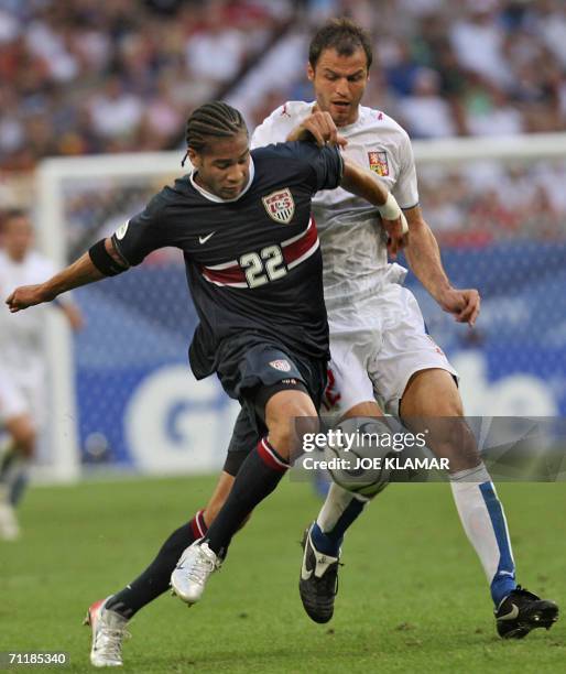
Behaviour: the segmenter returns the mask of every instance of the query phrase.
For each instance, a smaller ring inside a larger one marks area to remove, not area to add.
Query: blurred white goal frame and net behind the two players
[[[432,337],[459,370],[470,415],[566,414],[566,135],[414,144],[421,203],[453,283],[478,287],[477,329],[456,324],[411,275]],[[45,161],[43,251],[63,267],[179,175],[182,153]],[[179,251],[75,292],[86,327],[46,328],[51,425],[45,468],[218,469],[238,405],[196,382],[196,325]]]

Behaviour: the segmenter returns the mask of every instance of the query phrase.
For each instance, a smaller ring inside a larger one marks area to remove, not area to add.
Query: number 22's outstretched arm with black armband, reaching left
[[[119,258],[115,251],[111,239],[105,239],[96,244],[97,251],[94,254],[92,251],[95,246],[86,253],[84,253],[76,262],[73,262],[69,267],[58,272],[44,283],[36,285],[22,285],[17,287],[13,293],[6,300],[6,304],[12,314],[20,312],[29,306],[35,304],[42,304],[44,302],[52,302],[66,291],[95,281],[100,281],[108,275],[111,275],[108,271],[101,271],[99,267],[104,269],[105,253],[107,256],[108,270],[113,265],[112,273],[119,273],[119,271],[126,271],[123,261]],[[98,256],[98,257],[97,257]],[[92,257],[97,259],[99,267],[92,262]],[[100,259],[102,262],[100,262]],[[121,269],[120,269],[121,268]]]

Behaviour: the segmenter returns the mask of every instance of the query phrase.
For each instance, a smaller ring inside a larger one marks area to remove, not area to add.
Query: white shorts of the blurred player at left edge
[[[45,416],[43,379],[43,371],[18,377],[0,367],[0,426],[23,414],[29,414],[35,426],[42,425]]]

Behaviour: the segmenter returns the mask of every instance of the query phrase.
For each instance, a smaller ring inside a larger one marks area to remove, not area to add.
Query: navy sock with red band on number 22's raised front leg
[[[210,550],[226,556],[233,534],[255,506],[275,489],[287,468],[289,464],[262,438],[241,465],[230,496],[208,530]]]

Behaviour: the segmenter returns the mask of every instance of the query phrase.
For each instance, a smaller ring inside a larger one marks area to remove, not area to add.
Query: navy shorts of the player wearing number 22
[[[230,475],[238,472],[246,456],[266,433],[255,406],[258,393],[265,387],[295,379],[304,384],[318,410],[327,373],[326,358],[298,356],[270,341],[258,340],[235,347],[229,356],[222,358],[217,370],[225,391],[230,398],[237,398],[242,406],[224,467]]]

